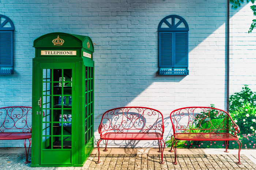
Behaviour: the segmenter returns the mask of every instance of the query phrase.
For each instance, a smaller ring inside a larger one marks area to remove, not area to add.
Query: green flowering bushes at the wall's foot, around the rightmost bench
[[[211,104],[214,108],[214,105]],[[214,110],[210,111],[212,114]],[[202,112],[203,114],[203,112]],[[244,85],[241,92],[232,94],[229,97],[229,114],[240,128],[239,139],[242,142],[242,148],[256,148],[256,92],[252,92],[248,85]],[[200,116],[199,116],[200,117]],[[223,115],[219,119],[211,119],[212,125],[220,125]],[[194,120],[196,127],[199,127],[200,120]],[[201,126],[208,129],[211,125],[201,121]],[[195,127],[191,127],[195,128]],[[193,131],[191,131],[193,132]],[[202,132],[202,131],[200,131]],[[167,146],[171,146],[171,140],[167,140]],[[178,141],[177,147],[184,148],[225,148],[223,141]],[[238,148],[236,141],[229,142],[229,148]]]

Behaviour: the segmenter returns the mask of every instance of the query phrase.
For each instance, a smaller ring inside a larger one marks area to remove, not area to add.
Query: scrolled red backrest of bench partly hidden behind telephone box
[[[13,106],[0,108],[1,132],[30,132],[32,123],[32,108]]]

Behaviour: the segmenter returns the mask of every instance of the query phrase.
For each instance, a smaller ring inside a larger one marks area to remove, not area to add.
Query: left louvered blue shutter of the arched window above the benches
[[[173,32],[159,32],[159,67],[173,66]]]

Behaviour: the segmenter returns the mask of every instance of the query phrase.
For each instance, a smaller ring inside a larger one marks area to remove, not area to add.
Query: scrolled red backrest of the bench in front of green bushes
[[[239,133],[239,127],[229,113],[212,107],[185,107],[171,112],[173,134],[175,132],[233,132]]]

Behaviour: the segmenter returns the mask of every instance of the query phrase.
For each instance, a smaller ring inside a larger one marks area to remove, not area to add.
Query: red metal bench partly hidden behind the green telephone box
[[[29,148],[26,147],[26,140],[31,145],[31,107],[13,106],[0,108],[0,140],[21,140],[23,139],[26,150],[26,162],[28,161]],[[30,121],[28,121],[30,119]]]

